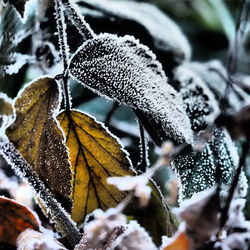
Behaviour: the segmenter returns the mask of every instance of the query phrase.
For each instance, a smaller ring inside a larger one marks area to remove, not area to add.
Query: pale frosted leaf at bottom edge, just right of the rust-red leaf
[[[17,238],[18,250],[67,250],[59,241],[48,233],[26,229]]]

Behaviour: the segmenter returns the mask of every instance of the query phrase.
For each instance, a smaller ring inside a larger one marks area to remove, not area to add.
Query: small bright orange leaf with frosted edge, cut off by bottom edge
[[[185,232],[179,232],[176,237],[161,248],[162,250],[190,250],[191,242],[188,235]]]

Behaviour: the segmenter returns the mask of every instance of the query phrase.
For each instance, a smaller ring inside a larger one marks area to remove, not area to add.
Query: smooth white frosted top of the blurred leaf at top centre
[[[191,58],[191,47],[180,28],[155,6],[133,1],[84,0],[84,2],[104,10],[108,15],[140,23],[154,38],[156,48],[171,51],[179,61]],[[98,16],[98,12],[90,11]],[[89,10],[83,8],[82,13],[89,14]]]

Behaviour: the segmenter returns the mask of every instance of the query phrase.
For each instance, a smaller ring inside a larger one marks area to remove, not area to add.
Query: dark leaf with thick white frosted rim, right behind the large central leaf
[[[204,130],[219,113],[218,103],[202,78],[185,66],[175,70],[175,79],[179,81],[180,95],[190,118],[192,129]]]

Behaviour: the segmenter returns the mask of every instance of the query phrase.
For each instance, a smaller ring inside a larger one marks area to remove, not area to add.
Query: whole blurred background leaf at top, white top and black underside
[[[156,53],[166,71],[191,56],[190,45],[177,24],[151,4],[81,0],[78,5],[94,31],[135,36]]]

